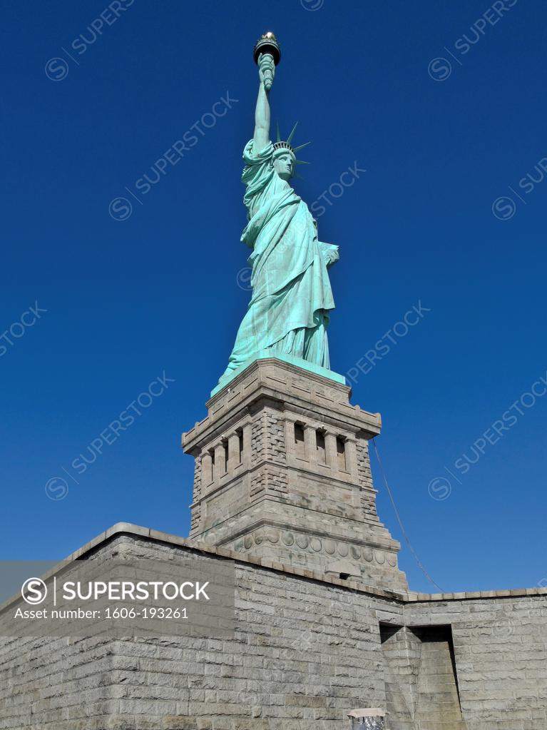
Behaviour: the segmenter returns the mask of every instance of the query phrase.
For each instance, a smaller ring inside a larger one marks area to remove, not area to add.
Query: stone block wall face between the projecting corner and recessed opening
[[[125,554],[168,560],[176,545],[118,538]],[[196,559],[210,560],[199,556]],[[376,610],[384,596],[236,564],[230,638],[127,639],[115,710],[128,729],[335,730],[354,707],[385,704]]]

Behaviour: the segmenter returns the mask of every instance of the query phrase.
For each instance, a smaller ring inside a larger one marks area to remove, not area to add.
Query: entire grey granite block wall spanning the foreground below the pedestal
[[[0,639],[2,730],[547,728],[545,589],[392,593],[128,525],[71,558],[120,549],[235,561],[235,634]]]

